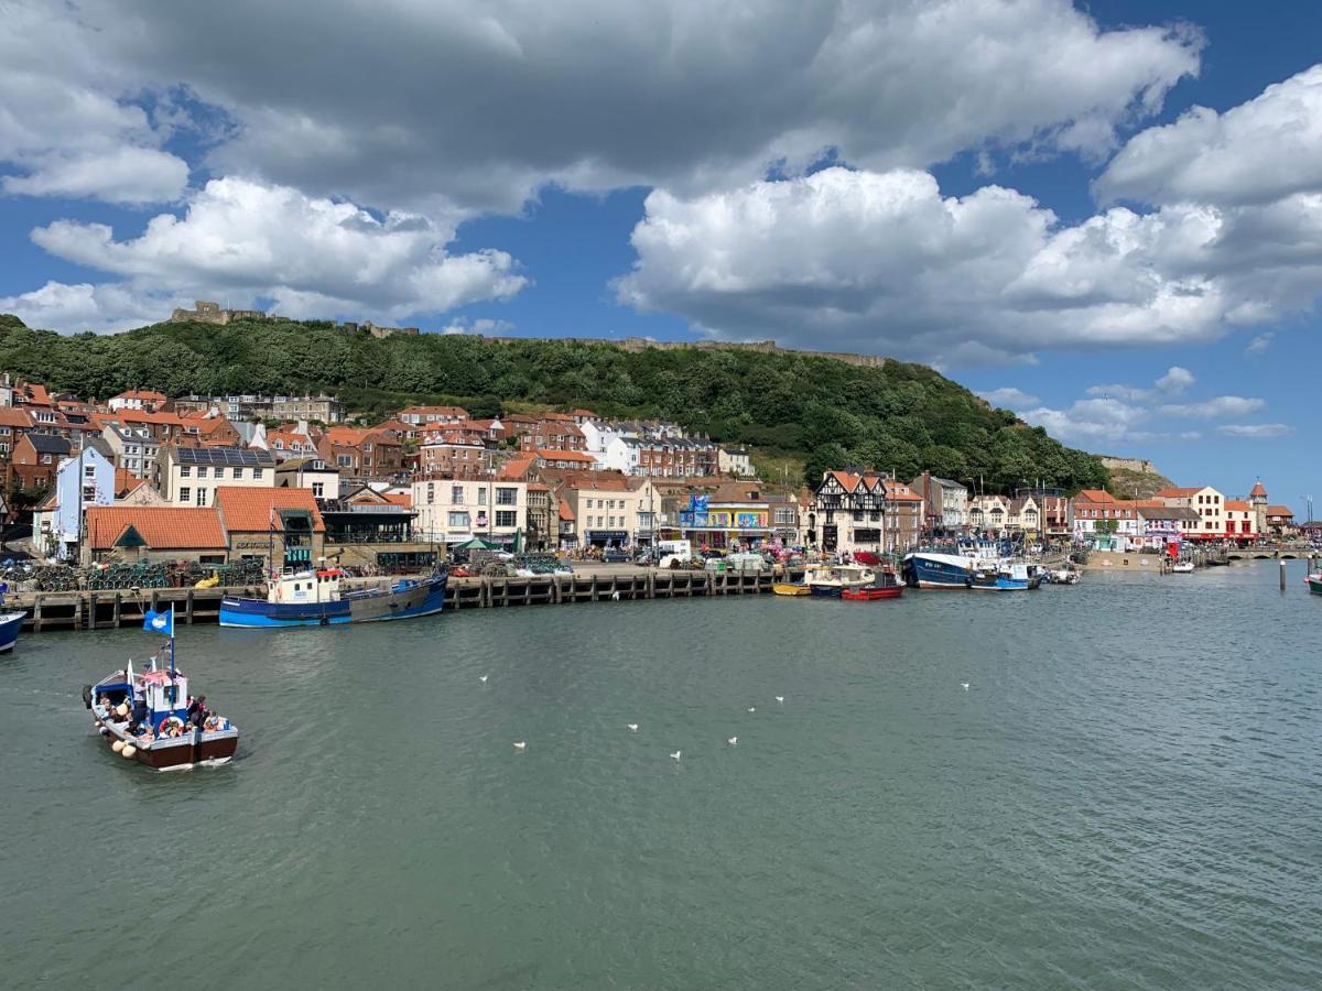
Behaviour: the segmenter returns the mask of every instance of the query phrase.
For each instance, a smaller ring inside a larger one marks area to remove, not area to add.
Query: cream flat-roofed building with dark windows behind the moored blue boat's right
[[[456,544],[480,536],[512,544],[527,530],[527,482],[497,478],[426,478],[412,484],[414,535]]]

